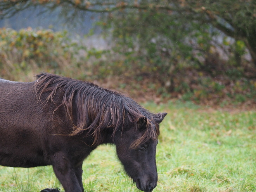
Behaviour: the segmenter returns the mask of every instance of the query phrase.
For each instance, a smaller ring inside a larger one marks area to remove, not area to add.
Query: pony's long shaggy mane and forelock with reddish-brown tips
[[[70,135],[88,130],[88,133],[93,135],[93,144],[100,144],[100,135],[104,128],[112,128],[112,137],[114,137],[116,131],[125,125],[127,121],[125,119],[135,123],[140,118],[147,118],[146,129],[132,147],[137,147],[150,138],[155,140],[159,135],[159,126],[156,121],[162,118],[161,113],[152,113],[129,97],[93,83],[54,74],[40,73],[35,77],[37,79],[35,93],[38,99],[41,100],[42,94],[47,93],[47,98],[41,101],[42,103],[49,100],[55,103],[56,92],[63,94],[62,103],[59,106],[56,105],[55,111],[60,106],[64,106],[67,117],[73,125],[76,122]],[[73,107],[76,107],[76,119],[73,116]]]

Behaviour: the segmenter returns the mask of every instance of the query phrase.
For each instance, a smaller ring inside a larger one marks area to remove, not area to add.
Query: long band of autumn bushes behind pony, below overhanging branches
[[[66,32],[3,28],[0,29],[0,76],[30,81],[33,74],[47,71],[97,81],[109,88],[125,90],[132,97],[157,102],[178,98],[228,104],[256,99],[256,69],[245,59],[240,64],[234,57],[225,60],[211,45],[204,51],[203,60],[196,58],[197,61],[191,62],[191,55],[187,59],[179,54],[166,55],[170,50],[159,48],[154,41],[147,42],[150,46],[144,48],[136,47],[129,36],[126,42],[121,41],[122,35],[118,37],[112,48],[97,50],[83,46],[83,40],[71,40]],[[232,55],[234,45],[226,42],[227,45]]]

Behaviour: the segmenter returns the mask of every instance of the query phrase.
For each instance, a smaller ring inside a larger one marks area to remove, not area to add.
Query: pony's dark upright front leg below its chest
[[[54,155],[52,167],[66,192],[83,192],[82,165],[74,166],[64,153],[58,152]]]

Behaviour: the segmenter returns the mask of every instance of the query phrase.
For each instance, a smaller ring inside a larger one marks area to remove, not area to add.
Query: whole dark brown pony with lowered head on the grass
[[[156,187],[157,137],[166,113],[85,81],[47,73],[36,78],[0,79],[0,165],[52,165],[66,192],[83,192],[83,160],[110,143],[138,189]]]

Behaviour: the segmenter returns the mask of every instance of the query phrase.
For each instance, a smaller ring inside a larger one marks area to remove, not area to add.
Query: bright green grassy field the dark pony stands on
[[[152,103],[168,112],[157,145],[159,182],[154,192],[256,191],[256,112],[213,110],[191,103]],[[113,146],[100,146],[83,165],[86,192],[139,192],[118,162]],[[1,192],[39,192],[59,187],[50,166],[0,166]],[[63,190],[63,189],[62,189]]]

